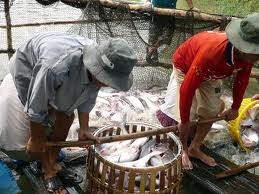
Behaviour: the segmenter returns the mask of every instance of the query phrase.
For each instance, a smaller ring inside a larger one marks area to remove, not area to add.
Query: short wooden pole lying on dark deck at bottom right
[[[227,178],[230,176],[234,176],[237,175],[245,170],[251,169],[251,168],[255,168],[259,166],[259,162],[255,162],[255,163],[250,163],[250,164],[245,164],[243,166],[238,166],[226,171],[223,171],[221,173],[216,174],[216,179],[223,179],[223,178]]]

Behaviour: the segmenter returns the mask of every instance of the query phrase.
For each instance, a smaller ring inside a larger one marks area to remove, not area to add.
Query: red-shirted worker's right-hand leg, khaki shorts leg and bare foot
[[[222,101],[221,95],[221,81],[213,80],[203,82],[200,88],[196,91],[195,97],[197,99],[196,114],[200,119],[209,119],[216,117],[221,111]],[[191,157],[200,159],[209,166],[215,166],[215,160],[201,151],[201,144],[211,129],[213,123],[203,124],[197,126],[194,139],[188,149],[188,154]]]

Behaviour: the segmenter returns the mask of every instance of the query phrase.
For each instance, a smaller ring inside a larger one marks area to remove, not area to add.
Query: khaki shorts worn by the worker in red
[[[180,87],[184,76],[180,70],[174,68],[168,84],[165,104],[161,106],[161,111],[176,121],[180,121]],[[222,94],[221,86],[221,80],[209,80],[201,83],[193,97],[190,111],[191,120],[197,117],[209,119],[220,113],[222,108],[222,101],[220,100]]]

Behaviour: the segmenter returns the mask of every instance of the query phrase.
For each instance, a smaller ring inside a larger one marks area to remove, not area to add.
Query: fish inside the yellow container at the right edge
[[[259,144],[259,103],[247,112],[246,119],[240,123],[240,134],[244,146],[254,148]]]

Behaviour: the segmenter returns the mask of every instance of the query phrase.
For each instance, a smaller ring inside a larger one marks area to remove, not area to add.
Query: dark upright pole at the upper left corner
[[[10,16],[10,1],[4,1],[4,10],[5,10],[5,19],[6,19],[6,33],[7,33],[7,50],[13,50],[13,41],[12,41],[12,23],[11,23],[11,16]],[[13,56],[13,53],[8,52],[9,59]]]

